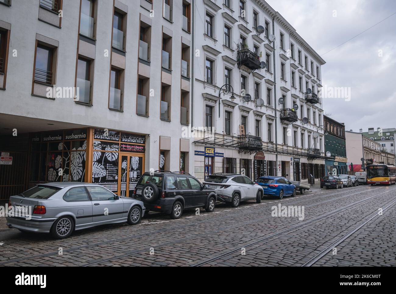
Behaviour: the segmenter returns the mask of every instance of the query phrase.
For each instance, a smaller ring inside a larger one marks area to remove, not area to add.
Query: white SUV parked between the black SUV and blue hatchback
[[[256,200],[260,203],[263,198],[263,188],[244,175],[212,174],[204,183],[209,188],[215,189],[217,200],[229,202],[232,207],[237,207],[240,202],[247,200]]]

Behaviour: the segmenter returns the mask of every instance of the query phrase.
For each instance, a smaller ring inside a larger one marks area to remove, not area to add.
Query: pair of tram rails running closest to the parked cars
[[[381,189],[381,187],[369,188],[368,190],[366,190],[366,189],[360,190],[359,189],[359,191],[357,191],[355,193],[348,194],[348,195],[345,195],[345,196],[342,196],[342,197],[335,197],[335,198],[327,199],[327,200],[324,200],[322,202],[318,202],[318,203],[314,203],[314,204],[309,204],[309,205],[306,205],[306,207],[311,207],[311,206],[324,204],[326,202],[330,202],[330,201],[333,201],[333,200],[342,199],[342,198],[345,198],[345,197],[350,197],[351,195],[356,195],[356,194],[362,193],[362,191],[373,191],[373,190],[376,190],[376,189]],[[288,205],[293,205],[293,204],[297,204],[297,203],[303,202],[305,200],[314,200],[314,199],[320,199],[320,198],[323,198],[323,197],[331,197],[333,195],[339,195],[341,193],[343,193],[343,192],[324,194],[324,195],[319,195],[319,196],[312,197],[312,198],[304,198],[304,199],[299,199],[299,200],[296,200],[296,201],[293,201],[293,202],[287,202],[287,203],[288,203]],[[131,236],[127,236],[127,237],[122,237],[122,238],[111,239],[111,240],[107,240],[107,241],[96,242],[96,243],[93,243],[93,244],[85,244],[85,245],[81,245],[81,246],[74,246],[72,248],[64,249],[63,252],[74,252],[76,250],[80,250],[80,249],[84,249],[84,248],[90,248],[90,247],[95,247],[95,246],[100,246],[100,245],[112,244],[112,243],[115,243],[115,242],[131,240],[131,239],[134,239],[134,238],[143,237],[143,236],[147,236],[147,235],[152,235],[152,234],[156,234],[156,233],[164,233],[164,232],[173,231],[173,230],[176,230],[176,229],[183,229],[185,227],[191,227],[191,226],[200,225],[200,224],[204,224],[204,223],[210,223],[210,222],[215,222],[215,221],[219,221],[219,220],[225,220],[225,219],[228,219],[228,218],[242,217],[242,216],[245,216],[245,215],[248,215],[248,214],[254,214],[254,213],[257,213],[257,212],[259,212],[259,210],[250,211],[250,212],[244,212],[244,213],[236,213],[236,214],[235,213],[230,213],[229,215],[221,217],[221,218],[215,218],[215,219],[205,220],[205,221],[198,221],[198,222],[189,223],[189,224],[186,224],[186,225],[179,225],[179,226],[174,226],[174,227],[171,227],[171,228],[159,229],[159,230],[156,230],[156,231],[150,231],[150,232],[147,232],[147,233],[141,233],[141,234],[131,235]],[[260,219],[247,221],[245,223],[240,223],[238,225],[228,226],[228,227],[225,227],[225,228],[217,230],[217,231],[211,231],[211,232],[205,233],[204,235],[217,233],[219,231],[231,229],[233,227],[238,227],[238,226],[246,225],[246,224],[249,224],[249,223],[254,223],[254,222],[265,220],[265,219],[268,219],[268,218],[271,218],[271,216],[266,217],[266,218],[260,218]],[[192,238],[196,238],[196,237],[201,237],[201,236],[194,235],[194,237],[185,238],[185,241],[187,241],[189,239],[192,239]],[[183,241],[177,240],[177,241],[174,241],[174,242],[183,242]],[[174,244],[174,242],[171,242],[169,244]],[[155,247],[166,246],[167,244],[168,243],[160,244],[160,245],[157,245]],[[135,252],[134,250],[132,250],[133,252],[128,252],[128,253],[129,254],[132,254],[132,253],[138,254],[138,253],[144,252],[146,250],[147,250],[147,248],[145,248],[144,250],[139,250],[138,252]],[[36,255],[33,255],[33,256],[27,256],[27,257],[24,257],[24,258],[14,258],[12,260],[7,260],[7,261],[0,262],[0,265],[6,265],[6,264],[16,263],[16,262],[23,262],[23,261],[26,261],[26,260],[32,260],[32,259],[35,259],[35,258],[48,257],[48,256],[58,255],[58,254],[59,254],[58,251],[53,251],[53,252],[48,252],[48,253],[44,253],[44,254],[36,254]],[[118,258],[118,257],[122,257],[122,256],[117,256],[116,258]],[[89,265],[93,265],[93,264],[94,263],[90,263],[90,264],[88,264],[88,266]]]

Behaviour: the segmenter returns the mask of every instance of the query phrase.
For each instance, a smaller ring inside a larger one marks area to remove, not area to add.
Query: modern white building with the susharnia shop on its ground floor
[[[130,195],[143,171],[190,171],[190,2],[0,1],[2,198],[48,181]]]

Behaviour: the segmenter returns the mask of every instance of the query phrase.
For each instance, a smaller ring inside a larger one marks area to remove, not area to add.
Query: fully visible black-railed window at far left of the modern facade
[[[34,81],[53,84],[52,73],[53,48],[38,44],[36,48],[36,64]]]

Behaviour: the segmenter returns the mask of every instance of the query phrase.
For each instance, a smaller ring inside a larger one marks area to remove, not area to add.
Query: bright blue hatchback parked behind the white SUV
[[[263,176],[258,178],[256,183],[263,187],[264,195],[276,196],[279,199],[296,195],[296,186],[284,177]]]

